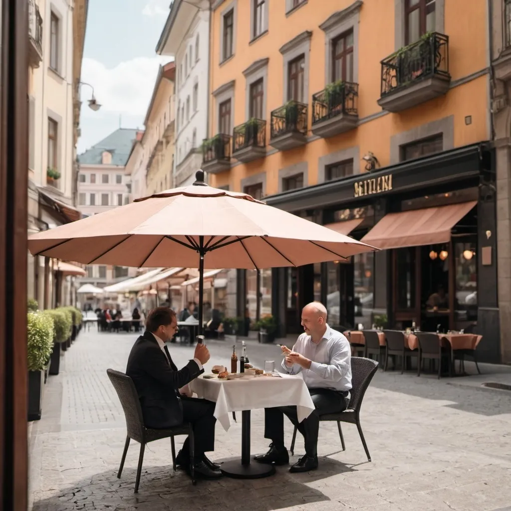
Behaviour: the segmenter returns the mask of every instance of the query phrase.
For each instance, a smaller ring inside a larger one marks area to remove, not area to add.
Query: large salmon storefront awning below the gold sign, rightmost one
[[[428,207],[385,215],[363,238],[375,247],[402,248],[448,243],[451,229],[472,210],[477,201]]]

